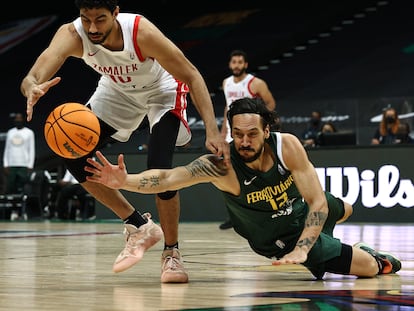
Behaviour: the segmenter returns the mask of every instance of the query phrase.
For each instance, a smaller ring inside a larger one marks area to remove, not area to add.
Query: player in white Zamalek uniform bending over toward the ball
[[[175,146],[191,138],[186,121],[190,93],[205,124],[206,147],[229,163],[228,144],[217,127],[206,83],[181,50],[144,16],[120,13],[117,0],[75,0],[75,4],[80,17],[58,29],[21,83],[27,120],[39,99],[60,82],[54,75],[65,61],[81,58],[101,75],[87,102],[101,124],[96,149],[108,141],[127,141],[147,116],[148,168],[171,167]],[[161,282],[188,282],[178,250],[178,192],[156,195],[159,227],[121,192],[86,181],[87,157],[65,162],[82,186],[124,221],[126,245],[115,260],[114,272],[136,264],[164,235]]]

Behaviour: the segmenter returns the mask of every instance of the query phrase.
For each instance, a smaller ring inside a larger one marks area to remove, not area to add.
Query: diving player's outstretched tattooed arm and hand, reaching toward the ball
[[[117,165],[111,164],[99,151],[96,156],[99,162],[89,158],[91,166],[85,167],[85,171],[93,174],[87,177],[88,181],[139,193],[159,193],[215,182],[228,171],[222,158],[210,154],[203,155],[186,166],[151,169],[139,174],[128,174],[122,154],[118,156]]]

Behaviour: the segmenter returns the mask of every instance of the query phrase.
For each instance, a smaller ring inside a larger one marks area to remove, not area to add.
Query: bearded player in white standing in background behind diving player
[[[229,69],[232,75],[225,78],[222,83],[226,105],[224,106],[221,134],[227,142],[233,140],[231,137],[230,125],[227,120],[227,111],[233,101],[244,97],[260,97],[270,111],[276,109],[276,101],[273,98],[267,83],[263,79],[260,79],[251,73],[247,73],[248,66],[249,62],[245,51],[233,50],[230,53]],[[227,219],[220,224],[219,228],[232,228],[230,219]]]

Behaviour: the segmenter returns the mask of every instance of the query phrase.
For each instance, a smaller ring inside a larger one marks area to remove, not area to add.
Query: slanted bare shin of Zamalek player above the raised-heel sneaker
[[[121,219],[129,217],[135,210],[119,190],[89,181],[83,182],[82,186],[96,200],[110,208]]]

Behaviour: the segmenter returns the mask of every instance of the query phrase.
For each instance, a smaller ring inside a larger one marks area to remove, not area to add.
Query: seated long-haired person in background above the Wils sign
[[[374,137],[371,140],[372,145],[392,145],[398,143],[397,132],[400,125],[397,111],[388,107],[382,113],[382,120],[375,130]]]

